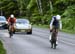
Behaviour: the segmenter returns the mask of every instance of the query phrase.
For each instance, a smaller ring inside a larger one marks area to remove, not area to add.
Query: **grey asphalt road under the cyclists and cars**
[[[49,30],[33,28],[33,34],[16,33],[9,38],[7,30],[0,30],[7,54],[75,54],[75,35],[59,32],[59,44],[52,49],[49,43]]]

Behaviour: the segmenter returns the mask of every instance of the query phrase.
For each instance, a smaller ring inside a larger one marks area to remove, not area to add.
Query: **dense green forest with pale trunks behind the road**
[[[0,15],[28,18],[32,24],[49,25],[61,15],[63,29],[75,32],[75,0],[0,0]]]

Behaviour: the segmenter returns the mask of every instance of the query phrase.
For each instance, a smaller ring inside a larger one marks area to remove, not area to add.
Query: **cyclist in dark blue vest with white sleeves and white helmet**
[[[53,29],[56,29],[56,36],[58,36],[58,29],[62,29],[62,23],[61,23],[61,16],[56,15],[52,17],[52,20],[50,22],[50,32],[52,32]],[[57,39],[58,40],[58,37]],[[51,36],[50,36],[50,41],[51,41]],[[58,44],[58,41],[56,41],[56,45]]]

